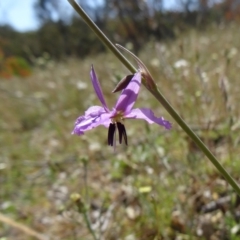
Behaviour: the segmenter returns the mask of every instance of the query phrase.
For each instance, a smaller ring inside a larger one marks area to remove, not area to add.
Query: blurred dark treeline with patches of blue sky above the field
[[[79,3],[113,42],[130,42],[135,52],[151,40],[174,39],[189,27],[203,29],[211,23],[236,20],[239,14],[237,0]],[[62,59],[105,51],[65,0],[2,0],[0,26],[1,54],[22,57],[28,63],[44,53]]]

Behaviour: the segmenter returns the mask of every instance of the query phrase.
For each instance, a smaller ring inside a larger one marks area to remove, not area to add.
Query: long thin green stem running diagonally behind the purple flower
[[[98,38],[110,49],[114,55],[132,72],[135,73],[137,70],[133,65],[118,51],[114,44],[104,35],[104,33],[97,27],[97,25],[91,20],[91,18],[84,12],[84,10],[79,6],[74,0],[68,0],[73,6],[76,12],[83,18],[83,20],[88,24],[88,26],[96,33]],[[147,83],[143,82],[144,86],[147,87]],[[211,153],[211,151],[204,145],[200,138],[191,130],[191,128],[184,122],[184,120],[178,115],[170,103],[165,99],[163,94],[158,88],[147,89],[153,94],[153,96],[163,105],[163,107],[168,111],[168,113],[174,118],[174,120],[181,126],[181,128],[187,133],[187,135],[195,142],[195,144],[203,151],[205,156],[212,162],[212,164],[217,168],[217,170],[225,177],[226,181],[233,187],[233,189],[240,196],[240,188],[236,181],[228,174],[224,167],[219,163],[216,157]]]

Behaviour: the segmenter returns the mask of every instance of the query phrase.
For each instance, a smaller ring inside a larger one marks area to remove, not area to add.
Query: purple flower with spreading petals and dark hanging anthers
[[[83,135],[86,131],[103,125],[108,128],[108,145],[115,146],[116,128],[118,129],[119,133],[119,143],[121,144],[122,139],[124,139],[125,144],[128,144],[127,132],[123,124],[125,119],[143,119],[150,124],[157,123],[166,129],[171,128],[170,122],[166,121],[163,117],[155,117],[154,113],[150,109],[133,109],[133,105],[137,100],[140,90],[141,72],[137,72],[133,75],[131,81],[122,91],[117,103],[115,104],[115,107],[112,110],[109,110],[107,107],[93,66],[91,68],[90,77],[93,88],[102,106],[92,106],[88,108],[85,114],[76,120],[72,134]]]

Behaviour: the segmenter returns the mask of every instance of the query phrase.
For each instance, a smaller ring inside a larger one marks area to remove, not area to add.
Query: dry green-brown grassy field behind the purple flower
[[[139,55],[164,96],[237,180],[239,35],[234,24],[190,30],[173,42],[148,43]],[[188,66],[175,68],[180,59]],[[1,80],[1,213],[50,239],[93,239],[70,198],[79,193],[98,239],[238,239],[236,194],[143,87],[136,106],[172,121],[171,131],[126,121],[129,146],[118,145],[116,153],[104,127],[71,135],[76,118],[100,104],[91,64],[112,107],[118,94],[111,90],[128,71],[110,54],[48,62],[28,79]],[[221,79],[229,85],[228,102]],[[3,222],[1,238],[34,239]]]

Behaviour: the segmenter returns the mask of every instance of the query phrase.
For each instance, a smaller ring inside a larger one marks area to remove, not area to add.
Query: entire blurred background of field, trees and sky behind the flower
[[[78,3],[240,182],[240,1]],[[172,130],[125,121],[116,152],[104,127],[71,135],[100,105],[91,64],[111,108],[129,71],[67,0],[0,1],[0,240],[240,239],[239,196],[144,87]]]

